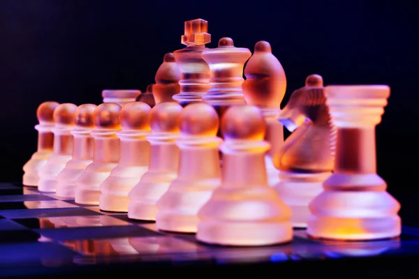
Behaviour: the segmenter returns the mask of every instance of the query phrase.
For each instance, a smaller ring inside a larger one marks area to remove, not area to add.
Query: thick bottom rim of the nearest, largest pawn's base
[[[290,222],[203,222],[196,239],[222,246],[268,246],[292,241],[293,228]]]

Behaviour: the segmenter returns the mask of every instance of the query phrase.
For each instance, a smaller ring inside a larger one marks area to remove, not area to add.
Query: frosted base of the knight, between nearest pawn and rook
[[[309,203],[323,192],[323,182],[332,172],[279,174],[279,183],[274,186],[281,200],[291,208],[291,223],[295,228],[306,228],[310,215]]]

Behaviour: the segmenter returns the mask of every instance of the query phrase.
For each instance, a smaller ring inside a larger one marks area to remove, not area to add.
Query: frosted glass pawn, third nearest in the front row
[[[175,140],[179,137],[180,112],[181,105],[169,102],[157,104],[150,112],[152,134],[146,137],[152,146],[150,165],[128,195],[128,218],[156,220],[157,201],[177,176],[179,147]]]

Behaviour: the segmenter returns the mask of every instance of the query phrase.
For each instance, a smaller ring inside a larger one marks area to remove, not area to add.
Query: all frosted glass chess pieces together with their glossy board
[[[281,110],[269,43],[210,40],[185,22],[145,92],[39,105],[22,183],[0,184],[0,276],[419,254],[376,174],[390,88],[313,74]]]

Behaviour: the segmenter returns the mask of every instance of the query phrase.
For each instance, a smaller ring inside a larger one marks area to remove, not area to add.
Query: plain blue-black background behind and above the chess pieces
[[[145,91],[163,55],[184,47],[184,21],[203,18],[207,47],[224,36],[252,52],[258,40],[271,43],[287,75],[282,106],[311,73],[326,85],[390,85],[378,174],[414,206],[419,195],[400,193],[419,187],[418,17],[415,0],[1,0],[1,181],[22,179],[40,103],[99,104],[102,89]]]

